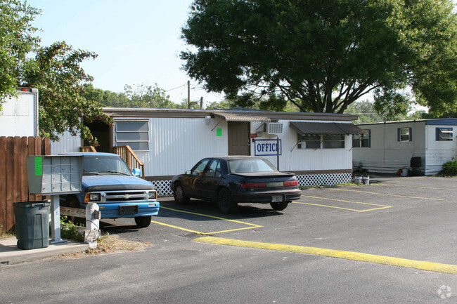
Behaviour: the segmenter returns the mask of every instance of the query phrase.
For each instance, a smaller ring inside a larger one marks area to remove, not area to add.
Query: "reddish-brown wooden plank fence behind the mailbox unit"
[[[41,195],[29,194],[26,157],[50,154],[49,138],[0,137],[0,230],[13,230],[13,202],[42,199]]]

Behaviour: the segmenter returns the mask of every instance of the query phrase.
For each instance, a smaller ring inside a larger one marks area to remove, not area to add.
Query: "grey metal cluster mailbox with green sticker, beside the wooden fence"
[[[82,155],[27,157],[30,194],[58,195],[81,192]]]

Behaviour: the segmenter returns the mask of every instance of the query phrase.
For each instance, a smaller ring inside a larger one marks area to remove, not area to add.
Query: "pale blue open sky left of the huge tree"
[[[207,93],[197,81],[181,70],[185,51],[181,27],[191,11],[191,0],[29,0],[41,9],[32,25],[41,29],[41,45],[66,41],[76,49],[98,54],[82,63],[94,77],[94,87],[124,92],[124,86],[146,84],[167,91],[174,103],[203,97],[205,105],[223,100]]]

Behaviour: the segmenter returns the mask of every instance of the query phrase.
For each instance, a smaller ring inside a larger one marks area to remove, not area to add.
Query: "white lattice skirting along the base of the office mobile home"
[[[352,173],[309,174],[297,176],[300,186],[333,186],[342,183],[351,183]],[[171,180],[151,180],[160,196],[173,195],[169,185]]]

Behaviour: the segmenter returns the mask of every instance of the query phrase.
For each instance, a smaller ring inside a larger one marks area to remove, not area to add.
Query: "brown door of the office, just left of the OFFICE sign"
[[[228,155],[250,155],[249,122],[228,121]]]

